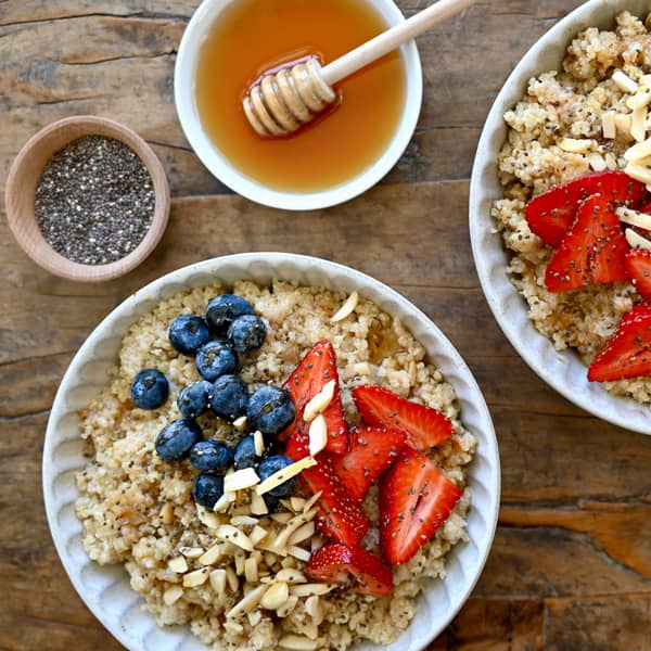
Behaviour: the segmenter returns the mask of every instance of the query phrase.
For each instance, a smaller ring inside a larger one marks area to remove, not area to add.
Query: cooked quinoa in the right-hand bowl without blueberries
[[[508,139],[498,158],[505,199],[493,217],[512,253],[507,268],[528,303],[528,317],[558,350],[575,349],[586,365],[615,332],[622,316],[639,295],[630,283],[593,285],[551,293],[545,270],[553,248],[534,235],[525,220],[526,204],[552,186],[602,169],[623,169],[624,152],[634,144],[628,129],[603,138],[601,116],[611,110],[628,114],[626,95],[611,76],[622,69],[634,80],[651,72],[651,16],[642,23],[628,12],[616,18],[614,31],[590,27],[567,48],[562,72],[551,71],[528,82],[525,97],[505,119]],[[564,138],[591,140],[588,151],[559,146]],[[651,403],[651,379],[607,382],[615,395]]]

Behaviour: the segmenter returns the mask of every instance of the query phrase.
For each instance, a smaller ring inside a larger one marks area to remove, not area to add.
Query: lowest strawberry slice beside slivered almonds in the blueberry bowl
[[[312,580],[321,583],[346,583],[353,576],[357,580],[355,591],[373,597],[384,597],[393,589],[391,567],[359,547],[321,547],[309,559],[306,573]]]

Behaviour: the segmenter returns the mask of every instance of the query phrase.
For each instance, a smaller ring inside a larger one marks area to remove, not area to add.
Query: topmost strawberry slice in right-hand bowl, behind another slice
[[[590,174],[536,196],[525,210],[529,229],[546,244],[558,247],[565,231],[574,224],[579,204],[597,193],[616,205],[635,207],[644,196],[646,189],[643,183],[623,171]]]

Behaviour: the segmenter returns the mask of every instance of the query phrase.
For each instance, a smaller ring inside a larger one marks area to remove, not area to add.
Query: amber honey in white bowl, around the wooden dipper
[[[367,0],[234,0],[199,58],[203,128],[234,167],[275,190],[317,192],[350,180],[380,157],[398,128],[407,85],[399,53],[336,85],[341,101],[286,138],[255,133],[242,100],[264,72],[309,55],[328,64],[385,29]]]

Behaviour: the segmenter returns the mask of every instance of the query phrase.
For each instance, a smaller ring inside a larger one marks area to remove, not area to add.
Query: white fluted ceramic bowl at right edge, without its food
[[[651,434],[651,409],[631,399],[609,394],[602,384],[588,382],[587,368],[570,350],[559,353],[550,340],[527,319],[528,306],[509,281],[509,255],[501,234],[494,232],[490,206],[503,196],[497,176],[497,155],[507,138],[503,114],[524,95],[531,77],[560,69],[572,39],[587,27],[608,28],[615,16],[629,10],[644,16],[648,0],[591,0],[554,25],[524,55],[498,94],[480,140],[470,189],[470,237],[475,267],[484,294],[505,334],[518,353],[542,380],[569,400],[595,416]]]

